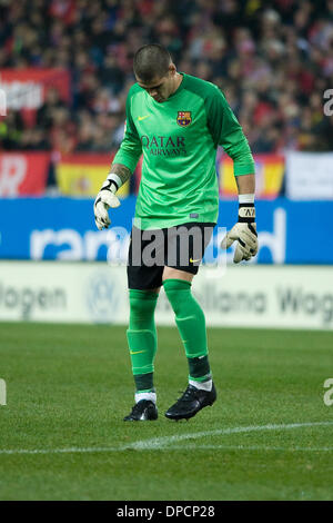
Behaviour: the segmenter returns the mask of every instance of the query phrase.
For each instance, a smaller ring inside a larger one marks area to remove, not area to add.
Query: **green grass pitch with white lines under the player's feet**
[[[176,329],[160,327],[159,420],[124,423],[124,327],[0,324],[0,499],[332,500],[333,334],[208,334],[218,402],[165,418],[188,366]]]

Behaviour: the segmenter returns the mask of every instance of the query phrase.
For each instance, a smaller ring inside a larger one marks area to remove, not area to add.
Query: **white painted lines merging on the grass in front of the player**
[[[235,448],[235,450],[281,450],[281,451],[325,451],[329,452],[333,450],[333,447],[295,447],[295,448],[286,448],[286,447],[265,447],[265,446],[242,446],[242,445],[190,445],[190,446],[176,446],[173,445],[174,443],[179,443],[186,440],[196,440],[201,437],[208,436],[224,436],[229,434],[244,434],[250,432],[261,432],[261,431],[289,431],[292,428],[302,428],[302,427],[313,427],[313,426],[332,426],[333,422],[314,422],[314,423],[290,423],[290,424],[269,424],[269,425],[251,425],[244,427],[229,427],[229,428],[221,428],[215,431],[205,431],[205,432],[194,432],[188,434],[175,434],[172,436],[162,436],[162,437],[154,437],[151,440],[139,440],[133,443],[128,443],[125,445],[120,446],[105,446],[105,447],[68,447],[68,448],[0,448],[0,454],[80,454],[80,453],[108,453],[108,452],[124,452],[124,451],[159,451],[159,450],[169,450],[169,451],[178,451],[178,450],[186,450],[186,448]],[[172,446],[173,445],[173,446]]]

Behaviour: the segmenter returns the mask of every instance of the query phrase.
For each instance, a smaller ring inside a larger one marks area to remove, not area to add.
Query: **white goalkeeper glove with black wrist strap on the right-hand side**
[[[228,249],[235,240],[238,244],[233,257],[234,264],[239,264],[243,259],[249,260],[256,255],[258,234],[254,204],[240,204],[239,221],[222,239],[222,249]]]

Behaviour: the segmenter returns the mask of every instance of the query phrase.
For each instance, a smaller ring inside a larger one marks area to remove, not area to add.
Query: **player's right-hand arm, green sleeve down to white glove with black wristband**
[[[221,247],[229,248],[236,241],[234,263],[249,260],[258,253],[258,235],[255,226],[255,170],[249,142],[242,127],[232,112],[225,97],[216,89],[210,97],[210,117],[208,119],[215,145],[221,145],[233,159],[233,169],[239,190],[239,219],[226,233]]]

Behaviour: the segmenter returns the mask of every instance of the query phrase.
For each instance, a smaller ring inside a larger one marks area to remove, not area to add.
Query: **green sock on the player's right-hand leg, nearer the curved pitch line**
[[[189,379],[195,382],[211,379],[205,318],[202,308],[192,296],[191,283],[183,279],[167,279],[163,286],[184,344],[189,362]]]

